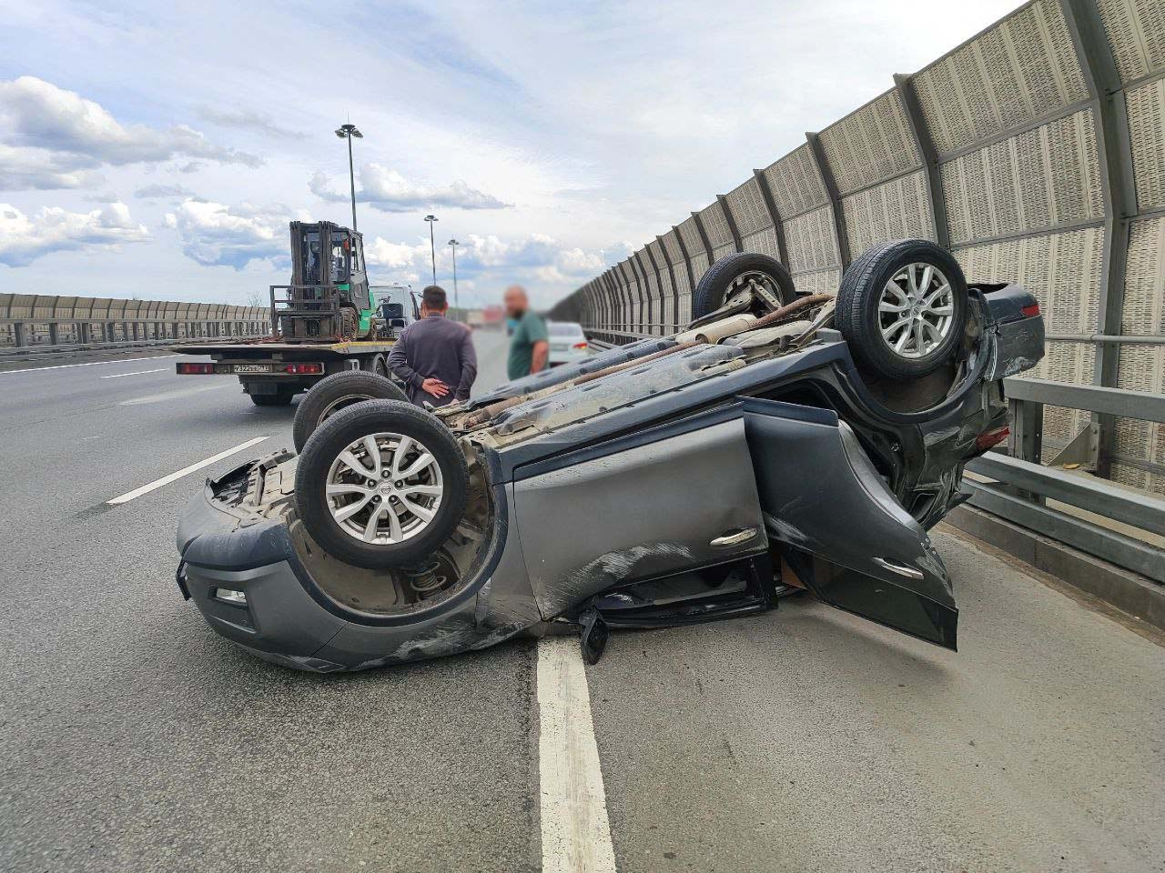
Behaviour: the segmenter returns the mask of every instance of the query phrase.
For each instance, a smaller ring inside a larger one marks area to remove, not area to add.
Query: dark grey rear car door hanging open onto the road
[[[769,537],[826,603],[955,648],[959,610],[942,559],[831,410],[744,404]]]

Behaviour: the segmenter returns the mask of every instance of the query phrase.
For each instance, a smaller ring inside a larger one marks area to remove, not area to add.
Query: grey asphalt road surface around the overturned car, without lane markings
[[[235,650],[178,595],[175,520],[291,410],[126,357],[0,372],[0,868],[538,870],[538,645],[351,676]],[[1165,870],[1160,638],[937,544],[958,654],[810,599],[613,637],[585,676],[617,870]]]

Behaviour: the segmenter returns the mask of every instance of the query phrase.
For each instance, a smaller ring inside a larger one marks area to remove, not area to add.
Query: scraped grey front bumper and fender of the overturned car
[[[485,648],[541,620],[520,549],[507,547],[504,505],[495,513],[501,530],[453,596],[373,616],[339,604],[311,579],[282,520],[243,520],[216,501],[217,484],[209,481],[182,516],[178,585],[216,632],[264,660],[319,673],[366,669]],[[246,603],[219,599],[220,588],[241,591]]]

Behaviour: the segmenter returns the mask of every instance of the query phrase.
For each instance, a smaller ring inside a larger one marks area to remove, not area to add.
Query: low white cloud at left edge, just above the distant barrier
[[[125,204],[110,204],[92,212],[69,212],[45,206],[27,215],[0,204],[0,263],[27,267],[54,251],[76,251],[146,242],[149,232],[129,217]]]

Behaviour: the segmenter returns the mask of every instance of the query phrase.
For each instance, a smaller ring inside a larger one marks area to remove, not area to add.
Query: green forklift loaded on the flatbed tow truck
[[[284,342],[351,342],[376,332],[363,236],[331,221],[291,222],[291,284],[270,292]]]

